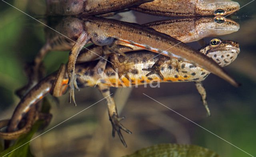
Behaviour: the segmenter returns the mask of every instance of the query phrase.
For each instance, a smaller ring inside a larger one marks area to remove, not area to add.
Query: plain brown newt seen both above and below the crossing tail
[[[240,26],[232,19],[222,16],[215,17],[190,17],[190,18],[174,18],[168,20],[160,20],[143,24],[142,26],[151,27],[156,31],[168,34],[183,43],[198,41],[204,37],[214,37],[226,35],[238,31]],[[202,29],[203,28],[203,29]],[[114,43],[114,44],[113,44]],[[96,45],[90,46],[90,50],[94,53],[88,53],[87,49],[83,49],[76,60],[76,63],[92,61],[103,55],[103,51],[112,50],[112,52],[123,54],[128,51],[142,50],[141,47],[128,44],[124,41],[116,40],[107,49]],[[117,44],[117,45],[115,45]],[[119,46],[121,45],[121,46]],[[113,49],[115,46],[116,49]],[[122,47],[125,46],[125,47]],[[112,48],[109,48],[112,47]]]

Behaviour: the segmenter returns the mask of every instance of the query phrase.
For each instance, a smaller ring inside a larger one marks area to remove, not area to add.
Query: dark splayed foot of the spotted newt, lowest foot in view
[[[124,130],[125,132],[127,132],[127,133],[129,133],[129,134],[132,134],[132,132],[129,131],[128,129],[126,129],[126,128],[120,123],[120,121],[123,120],[124,118],[125,118],[125,117],[120,117],[120,118],[119,118],[118,115],[117,115],[115,112],[113,112],[113,116],[110,117],[110,122],[111,122],[112,128],[113,128],[113,130],[112,130],[112,136],[115,137],[115,134],[116,134],[116,132],[117,132],[117,134],[118,134],[120,140],[122,141],[124,147],[127,147],[127,145],[126,145],[126,143],[125,143],[125,141],[124,141],[124,137],[123,137],[123,135],[122,135],[122,133],[121,133],[121,130]]]

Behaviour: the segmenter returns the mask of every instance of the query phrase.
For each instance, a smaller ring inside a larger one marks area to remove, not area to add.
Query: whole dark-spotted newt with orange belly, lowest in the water
[[[95,49],[95,47],[92,48]],[[101,49],[104,49],[104,47]],[[114,45],[113,49],[116,50]],[[110,52],[111,51],[106,51],[105,55]],[[234,41],[222,41],[219,38],[212,39],[209,45],[200,50],[200,53],[211,57],[214,61],[217,61],[220,66],[230,64],[236,59],[239,52],[240,49],[238,43]],[[153,59],[144,63],[144,61],[150,58]],[[206,109],[208,110],[206,92],[200,83],[210,74],[210,72],[205,69],[163,55],[156,56],[155,53],[148,51],[130,52],[126,54],[126,57],[112,53],[109,57],[109,61],[114,64],[107,63],[104,59],[77,64],[75,72],[80,75],[80,77],[77,78],[79,87],[97,85],[102,95],[107,97],[106,100],[110,121],[113,127],[113,136],[115,131],[117,131],[124,146],[126,146],[126,143],[122,137],[120,129],[127,133],[131,132],[120,124],[120,120],[123,118],[118,117],[116,104],[114,103],[112,96],[109,96],[109,88],[111,86],[135,86],[154,81],[194,81],[197,82],[196,87],[202,96]],[[118,68],[118,71],[116,71],[116,68]],[[148,73],[147,71],[152,72],[148,77],[146,77],[146,74]],[[161,77],[159,74],[162,75],[162,79],[159,78]],[[24,113],[28,111],[28,108],[38,100],[42,99],[47,93],[50,92],[54,96],[62,95],[67,86],[67,81],[67,69],[66,66],[62,65],[58,72],[44,78],[40,83],[32,88],[16,107],[8,126],[8,131],[14,131]],[[210,114],[209,111],[208,114]]]

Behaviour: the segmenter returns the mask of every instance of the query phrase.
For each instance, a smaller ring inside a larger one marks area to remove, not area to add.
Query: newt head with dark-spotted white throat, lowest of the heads
[[[221,67],[224,67],[236,59],[240,53],[240,48],[235,41],[213,38],[209,45],[201,49],[200,52],[212,58]]]

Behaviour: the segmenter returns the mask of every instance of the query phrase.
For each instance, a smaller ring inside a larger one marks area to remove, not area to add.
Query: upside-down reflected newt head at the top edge
[[[226,16],[239,8],[239,3],[232,0],[198,0],[196,4],[196,12],[203,16]]]

